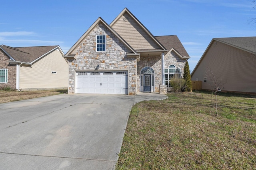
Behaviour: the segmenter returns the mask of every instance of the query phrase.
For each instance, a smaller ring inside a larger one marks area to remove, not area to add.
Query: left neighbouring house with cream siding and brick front
[[[0,46],[0,86],[17,90],[68,88],[68,62],[59,46]]]

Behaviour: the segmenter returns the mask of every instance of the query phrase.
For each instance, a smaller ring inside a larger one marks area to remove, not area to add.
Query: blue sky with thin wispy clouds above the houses
[[[177,35],[192,71],[212,38],[256,36],[253,0],[5,0],[0,45],[60,45],[66,53],[102,17],[126,7],[155,36]]]

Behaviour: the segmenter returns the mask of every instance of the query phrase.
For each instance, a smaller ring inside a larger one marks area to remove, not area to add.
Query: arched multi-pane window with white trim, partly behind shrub
[[[171,87],[170,80],[172,78],[181,78],[180,76],[181,70],[180,68],[176,68],[175,65],[170,65],[168,68],[164,69],[164,84],[167,87]]]

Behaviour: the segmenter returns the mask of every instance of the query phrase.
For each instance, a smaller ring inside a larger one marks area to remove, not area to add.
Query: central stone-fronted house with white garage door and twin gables
[[[153,36],[124,8],[109,25],[98,18],[64,58],[70,94],[135,95],[166,93],[190,57],[176,35]]]

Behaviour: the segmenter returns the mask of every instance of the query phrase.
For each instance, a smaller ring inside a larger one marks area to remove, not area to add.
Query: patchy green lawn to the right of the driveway
[[[256,169],[256,98],[168,96],[132,107],[117,170]]]

